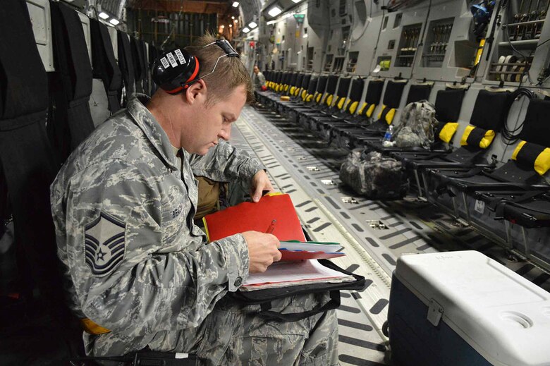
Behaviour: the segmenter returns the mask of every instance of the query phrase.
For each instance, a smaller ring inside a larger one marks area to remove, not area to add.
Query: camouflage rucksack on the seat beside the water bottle
[[[434,143],[437,126],[435,108],[427,100],[409,103],[403,109],[393,140],[398,147],[429,147]]]

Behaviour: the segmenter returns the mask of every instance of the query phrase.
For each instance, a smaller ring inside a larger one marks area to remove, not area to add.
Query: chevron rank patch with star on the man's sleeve
[[[121,264],[126,254],[126,224],[109,214],[99,217],[85,230],[85,260],[94,276],[105,276]]]

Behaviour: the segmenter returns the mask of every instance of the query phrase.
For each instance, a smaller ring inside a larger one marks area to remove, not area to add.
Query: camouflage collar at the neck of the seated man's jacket
[[[126,110],[132,116],[136,125],[143,131],[145,137],[154,149],[159,152],[161,158],[165,161],[170,169],[178,170],[176,163],[176,154],[173,152],[172,145],[166,135],[166,132],[161,128],[157,119],[151,114],[145,106],[149,102],[149,97],[145,94],[134,93],[128,101]]]

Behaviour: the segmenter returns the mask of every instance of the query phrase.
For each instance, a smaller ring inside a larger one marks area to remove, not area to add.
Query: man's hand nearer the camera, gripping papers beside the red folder
[[[259,231],[245,231],[242,235],[248,245],[248,272],[265,272],[271,263],[281,260],[281,243],[276,236]]]

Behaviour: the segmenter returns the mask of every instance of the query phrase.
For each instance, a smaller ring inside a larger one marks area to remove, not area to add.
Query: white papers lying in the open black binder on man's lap
[[[266,272],[250,274],[240,290],[255,291],[306,283],[340,283],[354,280],[353,276],[324,267],[317,260],[276,262],[267,267]]]

